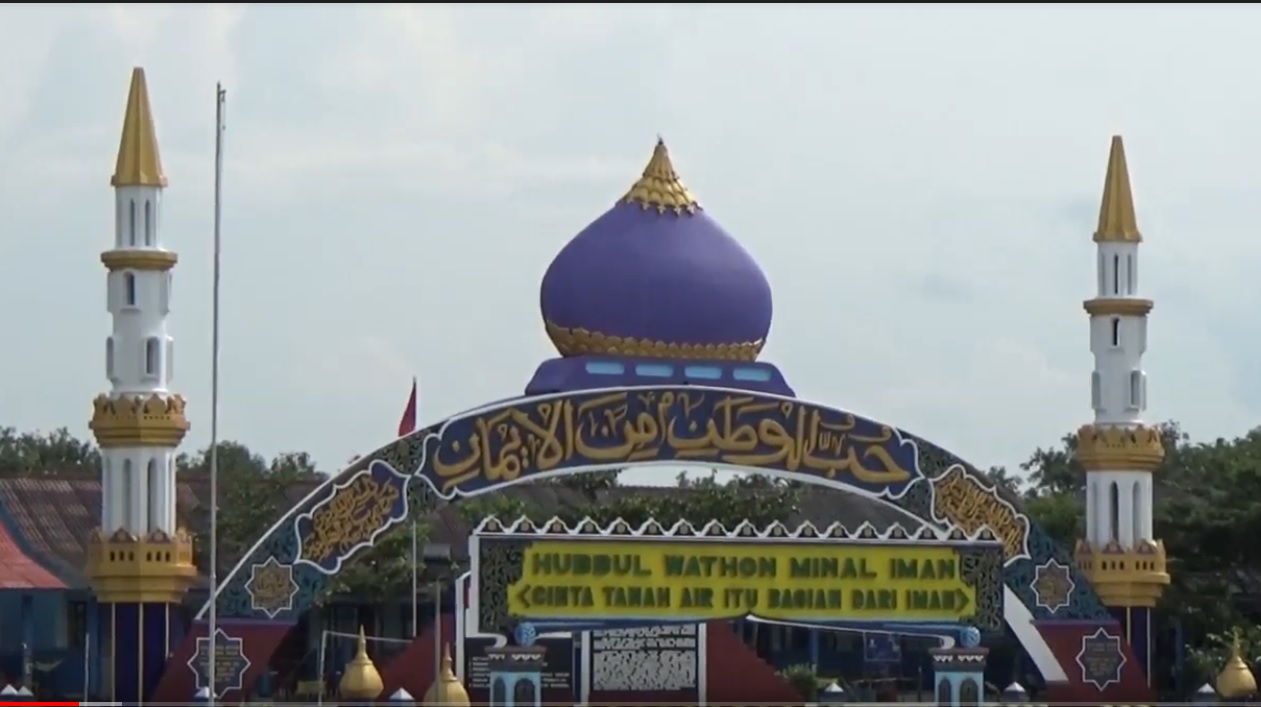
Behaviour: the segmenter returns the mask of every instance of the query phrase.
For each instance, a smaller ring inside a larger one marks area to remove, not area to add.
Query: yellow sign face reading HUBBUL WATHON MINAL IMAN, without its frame
[[[958,621],[958,549],[919,544],[533,541],[508,614],[531,620]]]

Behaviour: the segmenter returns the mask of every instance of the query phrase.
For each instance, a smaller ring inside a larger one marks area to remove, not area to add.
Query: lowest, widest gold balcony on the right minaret
[[[1169,558],[1160,541],[1139,541],[1129,549],[1116,541],[1103,547],[1077,541],[1073,560],[1105,606],[1155,606],[1169,583]]]

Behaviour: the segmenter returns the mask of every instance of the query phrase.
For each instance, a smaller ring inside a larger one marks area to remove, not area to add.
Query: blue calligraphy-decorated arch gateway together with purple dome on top
[[[294,507],[211,599],[218,674],[206,675],[207,604],[155,698],[185,699],[194,683],[213,683],[227,698],[248,689],[346,562],[422,510],[416,504],[564,474],[681,464],[842,489],[907,517],[897,531],[904,537],[864,542],[987,542],[1001,577],[986,602],[992,614],[970,614],[955,629],[1005,623],[1048,686],[1063,688],[1058,699],[1144,694],[1116,619],[1016,499],[921,437],[798,399],[778,368],[757,360],[770,325],[769,286],[700,209],[663,145],[627,197],[561,251],[542,290],[561,357],[540,365],[526,394],[391,441]],[[860,529],[837,532],[854,541]],[[948,630],[938,623],[931,633]]]

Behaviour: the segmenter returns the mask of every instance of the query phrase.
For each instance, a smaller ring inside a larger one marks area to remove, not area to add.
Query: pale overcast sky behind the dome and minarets
[[[520,393],[538,280],[658,134],[774,287],[798,393],[1014,465],[1087,422],[1091,232],[1126,139],[1151,417],[1261,411],[1250,5],[0,6],[0,423],[87,436],[108,178],[149,76],[177,386],[209,430],[214,83],[228,88],[221,432],[325,468]],[[639,473],[643,481],[651,471]]]

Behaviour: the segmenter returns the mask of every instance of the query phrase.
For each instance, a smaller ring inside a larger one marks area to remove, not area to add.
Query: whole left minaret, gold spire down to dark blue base
[[[100,660],[110,701],[137,704],[161,677],[177,606],[197,577],[193,538],[177,526],[175,449],[188,432],[184,398],[171,391],[174,345],[166,333],[175,253],[163,242],[166,178],[149,110],[145,73],[131,73],[113,178],[113,238],[105,342],[110,393],[92,401],[101,447],[101,524],[84,573],[101,606]],[[177,629],[178,630],[178,629]]]

